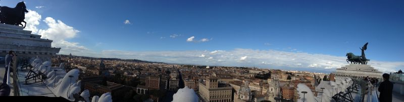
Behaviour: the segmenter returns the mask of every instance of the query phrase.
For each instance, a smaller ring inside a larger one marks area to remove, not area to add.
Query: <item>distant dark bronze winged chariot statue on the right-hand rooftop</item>
[[[363,64],[363,65],[368,64],[368,61],[370,61],[370,60],[366,59],[366,56],[365,56],[365,50],[367,49],[367,47],[368,47],[368,42],[366,42],[366,44],[363,45],[362,48],[359,48],[362,50],[361,56],[355,56],[353,53],[346,53],[346,56],[347,56],[346,62],[350,61],[350,63]]]

